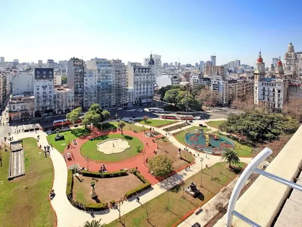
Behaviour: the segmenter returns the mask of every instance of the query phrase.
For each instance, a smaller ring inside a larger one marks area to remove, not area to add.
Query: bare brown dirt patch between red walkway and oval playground
[[[171,144],[168,139],[158,139],[157,154],[164,154],[171,158],[174,161],[173,170],[179,169],[183,166],[187,166],[188,164],[190,164],[190,162],[194,161],[193,155],[183,150],[181,150],[182,159],[178,159],[178,148]]]

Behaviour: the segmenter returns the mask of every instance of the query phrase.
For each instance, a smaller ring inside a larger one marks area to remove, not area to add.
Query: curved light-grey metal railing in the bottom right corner
[[[230,198],[230,202],[229,202],[229,206],[228,206],[228,211],[227,211],[227,220],[226,220],[226,226],[227,227],[232,227],[233,225],[233,216],[236,216],[237,218],[241,219],[243,222],[249,224],[250,226],[253,227],[261,227],[259,224],[255,223],[254,221],[248,219],[247,217],[245,217],[244,215],[238,213],[237,211],[235,211],[235,205],[239,196],[239,193],[241,191],[241,189],[244,186],[244,183],[247,181],[247,179],[249,178],[249,176],[255,172],[258,173],[262,176],[265,176],[271,180],[274,180],[276,182],[279,182],[283,185],[289,186],[293,189],[297,189],[302,191],[302,186],[298,185],[296,183],[293,183],[291,181],[288,181],[284,178],[278,177],[276,175],[273,175],[271,173],[268,173],[266,171],[263,171],[261,169],[258,169],[257,166],[264,161],[270,154],[272,153],[272,151],[269,148],[265,148],[263,151],[261,151],[245,168],[245,170],[242,172],[241,176],[239,177],[231,198]]]

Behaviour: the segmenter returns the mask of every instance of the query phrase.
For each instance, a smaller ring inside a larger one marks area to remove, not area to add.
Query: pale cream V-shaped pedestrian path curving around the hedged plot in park
[[[161,129],[156,129],[156,131]],[[164,134],[166,132],[164,131]],[[41,144],[42,147],[48,145],[47,142],[47,134],[39,131],[37,134],[34,132],[26,132],[26,133],[19,133],[17,135],[13,134],[13,137],[18,140],[27,137],[34,137],[40,136],[40,141],[38,145]],[[136,134],[135,134],[136,135]],[[173,143],[176,147],[184,147],[180,144],[174,137],[169,136],[168,139],[171,143]],[[196,153],[194,150],[189,149],[192,153]],[[119,212],[117,209],[110,209],[102,212],[95,212],[94,216],[90,214],[80,211],[74,208],[67,199],[66,195],[66,184],[67,184],[67,167],[66,162],[64,160],[63,155],[57,151],[56,149],[51,150],[50,152],[54,171],[55,171],[55,178],[53,189],[55,190],[56,196],[53,200],[51,200],[51,205],[53,206],[54,210],[56,211],[58,227],[77,227],[83,226],[86,221],[92,220],[99,220],[101,219],[101,223],[110,223],[118,218]],[[212,156],[205,158],[205,154],[200,154],[200,157],[203,157],[203,167],[205,164],[208,166],[215,164],[219,161],[219,156]],[[240,158],[241,161],[249,163],[251,158]],[[192,175],[198,173],[201,170],[201,162],[197,160],[197,162],[191,166],[190,171],[182,170],[171,177],[155,184],[152,186],[151,189],[143,191],[142,193],[138,194],[140,197],[140,202],[143,204],[161,193],[165,192],[168,189],[171,189],[175,185],[179,184],[181,181],[188,179]],[[121,205],[121,213],[127,214],[128,212],[134,210],[135,208],[139,207],[140,204],[135,201],[135,198],[130,198],[129,200],[124,201]]]

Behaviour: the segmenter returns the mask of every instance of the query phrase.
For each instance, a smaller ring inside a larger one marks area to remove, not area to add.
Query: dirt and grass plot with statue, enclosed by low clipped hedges
[[[134,174],[128,176],[113,177],[113,178],[91,178],[79,176],[79,179],[84,181],[81,183],[77,178],[74,178],[73,197],[81,203],[97,203],[110,202],[111,200],[120,200],[125,193],[143,183]],[[96,183],[97,198],[90,198],[91,182]]]

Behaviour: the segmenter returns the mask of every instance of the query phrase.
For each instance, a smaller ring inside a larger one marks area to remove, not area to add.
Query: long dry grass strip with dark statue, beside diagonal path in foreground
[[[210,198],[217,194],[220,189],[229,184],[237,176],[238,170],[245,167],[246,164],[240,162],[238,167],[229,169],[226,162],[218,162],[213,165],[213,180],[211,180],[211,168],[203,169],[202,188],[201,188],[201,172],[193,175],[184,181],[184,187],[187,187],[192,181],[196,183],[201,193],[197,197],[192,197],[188,193],[184,193],[183,186],[177,185],[166,191],[154,199],[147,202],[148,219],[152,226],[170,227],[178,222],[184,215],[190,211],[197,209],[206,203]],[[165,208],[168,204],[168,210]],[[146,222],[146,203],[142,204],[135,210],[122,216],[121,220],[125,226],[131,227],[150,227],[150,223]],[[115,220],[105,227],[122,226],[118,220]]]

